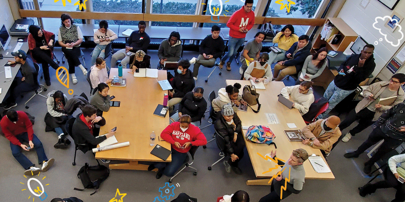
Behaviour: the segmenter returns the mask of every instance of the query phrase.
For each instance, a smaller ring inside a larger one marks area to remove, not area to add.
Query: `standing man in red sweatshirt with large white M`
[[[224,67],[226,59],[226,70],[230,71],[230,63],[236,57],[238,48],[245,42],[247,31],[252,29],[254,25],[254,12],[252,11],[253,0],[245,0],[245,5],[241,9],[232,14],[226,26],[229,29],[228,53],[224,55],[220,62],[220,68]]]

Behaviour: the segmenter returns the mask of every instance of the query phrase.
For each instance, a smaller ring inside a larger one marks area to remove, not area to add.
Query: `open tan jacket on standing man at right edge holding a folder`
[[[380,82],[373,83],[369,87],[367,87],[367,89],[365,89],[364,93],[363,93],[364,98],[356,106],[356,109],[355,109],[356,113],[360,112],[360,110],[364,109],[370,103],[373,102],[373,99],[367,99],[367,97],[369,97],[370,94],[373,94],[374,97],[378,97],[386,88],[388,88],[389,83],[390,82],[380,81]],[[377,112],[375,112],[375,115],[373,117],[373,121],[377,120],[377,118],[379,116],[381,116],[382,113],[384,113],[385,111],[387,111],[394,105],[399,104],[404,101],[405,93],[401,87],[398,88],[396,95],[398,97],[396,97],[396,99],[393,103],[391,103],[390,105],[382,105],[381,108],[377,109]]]

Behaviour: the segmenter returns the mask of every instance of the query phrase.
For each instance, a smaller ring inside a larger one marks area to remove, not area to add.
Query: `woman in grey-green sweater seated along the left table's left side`
[[[102,112],[108,112],[110,109],[110,95],[108,95],[108,90],[110,87],[105,83],[99,83],[97,85],[98,91],[94,93],[92,99],[90,100],[90,105],[93,105],[97,109],[97,116],[102,116]]]

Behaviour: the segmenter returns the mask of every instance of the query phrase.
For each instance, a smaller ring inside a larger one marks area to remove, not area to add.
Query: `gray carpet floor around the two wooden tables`
[[[90,68],[90,52],[92,49],[84,49],[85,61],[87,68]],[[55,54],[58,59],[62,58],[62,52],[60,48],[55,48]],[[158,63],[157,51],[150,50],[149,55],[152,56],[152,68],[156,68]],[[185,52],[183,58],[191,59],[197,57],[197,52]],[[110,59],[107,60],[107,65],[110,64]],[[62,65],[62,63],[61,63]],[[67,67],[67,63],[63,66]],[[212,69],[206,67],[200,67],[198,80],[196,86],[203,86],[205,88],[204,97],[207,99],[209,92],[224,87],[226,79],[240,79],[239,65],[235,61],[232,62],[232,71],[228,72],[225,69],[222,71],[222,76],[219,76],[219,69],[215,69],[215,72],[209,78],[208,83],[204,80],[211,72]],[[85,92],[87,95],[90,93],[90,87],[85,76],[80,73],[77,68],[77,78],[79,82],[77,84],[70,84],[70,88],[74,90],[74,94],[79,95],[81,92]],[[52,85],[47,87],[48,91],[43,92],[43,95],[47,95],[51,90],[62,90],[68,95],[68,89],[60,84],[55,77],[55,70],[51,69],[51,82]],[[284,81],[286,85],[293,85],[294,81],[290,78]],[[44,80],[41,83],[45,84]],[[322,96],[323,92],[318,93],[318,96]],[[55,149],[53,145],[58,141],[57,136],[53,132],[45,132],[45,123],[43,117],[47,112],[46,99],[43,97],[34,97],[28,105],[29,109],[24,108],[24,102],[29,98],[26,95],[20,99],[15,107],[16,110],[23,110],[35,116],[34,133],[42,141],[45,152],[48,158],[55,158],[55,164],[47,172],[40,173],[39,176],[35,176],[40,180],[45,187],[45,193],[47,198],[45,201],[50,201],[52,198],[68,198],[71,196],[78,197],[85,202],[110,201],[115,197],[116,190],[119,189],[120,193],[126,193],[126,196],[122,201],[144,201],[152,202],[154,198],[160,198],[160,187],[166,186],[168,177],[163,176],[161,179],[156,179],[155,172],[139,171],[139,170],[111,170],[109,178],[104,181],[93,196],[90,194],[93,190],[75,191],[74,187],[83,188],[80,179],[77,178],[77,172],[85,164],[96,165],[94,156],[88,152],[83,154],[81,151],[77,152],[76,166],[72,166],[74,145],[70,145],[68,149]],[[68,98],[71,96],[68,95]],[[76,112],[78,113],[78,112]],[[208,113],[207,113],[208,114]],[[333,114],[333,112],[331,113]],[[345,115],[342,115],[343,119]],[[203,118],[203,126],[207,123],[207,117]],[[134,120],[140,121],[140,120]],[[352,128],[351,126],[350,128]],[[347,133],[350,128],[347,128],[343,133]],[[336,179],[334,180],[305,180],[303,190],[300,194],[292,194],[283,201],[390,201],[394,198],[395,190],[380,189],[371,196],[361,197],[358,194],[358,187],[361,187],[370,177],[362,174],[363,163],[368,159],[366,154],[362,154],[359,158],[346,159],[343,154],[346,150],[356,149],[369,135],[370,128],[367,128],[362,133],[356,135],[347,143],[339,143],[333,153],[328,157],[328,164],[333,171]],[[211,139],[213,135],[213,126],[205,128],[203,133],[207,139]],[[282,134],[280,134],[282,135]],[[70,138],[71,139],[71,138]],[[0,138],[0,155],[2,156],[2,166],[0,168],[0,201],[27,201],[32,200],[38,202],[40,198],[34,196],[27,188],[27,178],[23,176],[23,168],[11,155],[9,141],[1,137]],[[241,160],[241,169],[243,175],[236,175],[234,173],[226,173],[222,162],[213,166],[212,170],[207,170],[207,166],[219,159],[219,149],[215,142],[211,142],[207,145],[207,149],[200,147],[195,155],[194,166],[198,169],[198,175],[194,176],[194,170],[186,168],[180,173],[171,185],[171,189],[175,194],[174,197],[181,192],[185,192],[188,195],[198,198],[201,202],[213,202],[217,197],[224,194],[232,194],[237,190],[245,190],[249,193],[251,201],[258,201],[262,196],[265,196],[270,191],[270,186],[247,186],[246,181],[249,179],[256,179],[252,164],[249,159],[249,155],[245,149],[245,157]],[[37,162],[36,153],[34,151],[23,151],[33,163]],[[117,163],[112,161],[111,163]],[[38,164],[37,164],[38,165]],[[374,182],[381,180],[381,177],[375,179]],[[49,184],[49,185],[48,185]],[[32,181],[31,187],[36,189],[39,186],[36,182]],[[167,187],[167,186],[166,186]],[[166,190],[166,187],[163,190]],[[26,189],[26,190],[23,190]],[[163,193],[165,196],[165,193]],[[34,198],[34,199],[33,199]],[[117,196],[118,199],[121,199]],[[164,201],[171,201],[173,196],[164,198]],[[119,202],[122,202],[118,200]],[[158,201],[158,200],[156,200]]]

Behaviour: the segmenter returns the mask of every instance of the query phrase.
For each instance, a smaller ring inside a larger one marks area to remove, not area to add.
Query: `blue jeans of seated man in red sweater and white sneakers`
[[[23,142],[28,142],[28,133],[21,133],[20,135],[15,136],[21,143]],[[38,164],[41,164],[43,161],[47,161],[48,158],[45,155],[44,147],[42,145],[42,142],[36,137],[34,134],[34,137],[32,138],[32,143],[34,143],[34,149],[36,151],[36,155],[38,156]],[[11,153],[13,154],[14,158],[23,166],[24,169],[28,170],[31,166],[34,166],[35,164],[31,163],[31,161],[21,153],[21,147],[20,145],[15,145],[10,142],[10,148],[11,148]]]

